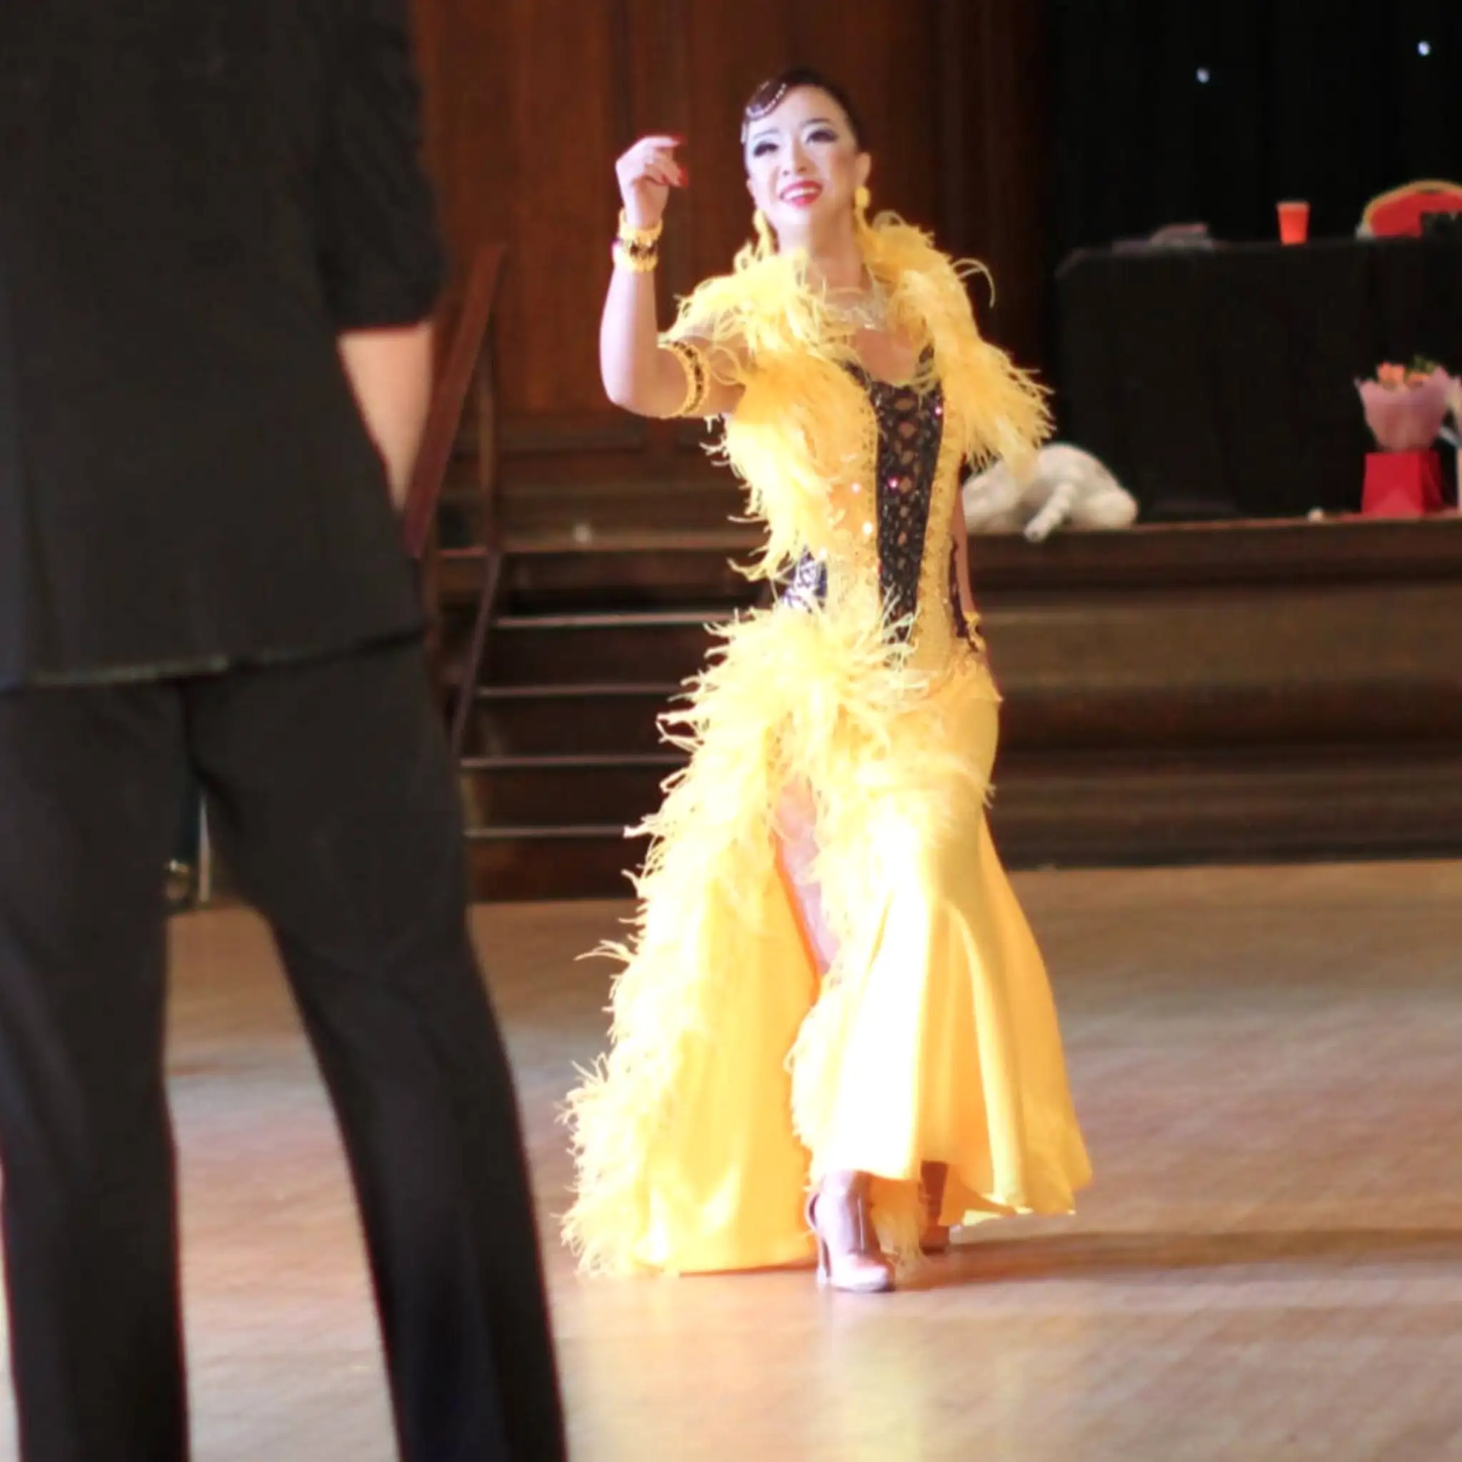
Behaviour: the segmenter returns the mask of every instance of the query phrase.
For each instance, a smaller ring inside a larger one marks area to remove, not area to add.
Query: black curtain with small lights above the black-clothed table
[[[1175,222],[1273,238],[1285,197],[1352,234],[1386,189],[1462,181],[1459,0],[1047,3],[1053,262]]]

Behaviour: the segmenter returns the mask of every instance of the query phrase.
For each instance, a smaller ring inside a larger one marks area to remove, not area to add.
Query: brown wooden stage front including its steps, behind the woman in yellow
[[[510,545],[463,762],[487,899],[617,896],[746,532]],[[1462,518],[975,538],[1015,867],[1462,854]],[[461,602],[472,563],[449,566]]]

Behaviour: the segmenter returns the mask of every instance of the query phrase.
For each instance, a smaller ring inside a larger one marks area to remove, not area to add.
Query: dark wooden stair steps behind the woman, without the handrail
[[[478,898],[629,893],[626,870],[643,844],[626,829],[683,762],[656,718],[703,662],[706,627],[753,602],[754,588],[728,566],[747,544],[722,531],[504,550],[461,730]],[[444,560],[449,614],[475,598],[481,560],[477,585],[474,556]]]

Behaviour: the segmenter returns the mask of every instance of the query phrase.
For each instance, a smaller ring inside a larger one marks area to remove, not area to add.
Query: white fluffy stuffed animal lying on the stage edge
[[[965,526],[972,534],[1025,534],[1044,542],[1057,528],[1130,528],[1136,499],[1080,447],[1053,443],[1037,453],[1022,482],[1003,463],[965,482]]]

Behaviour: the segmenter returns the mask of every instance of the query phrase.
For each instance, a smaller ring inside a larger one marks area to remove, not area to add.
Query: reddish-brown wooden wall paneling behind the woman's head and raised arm
[[[604,399],[596,336],[613,165],[643,132],[687,137],[692,187],[674,200],[664,246],[668,319],[673,297],[728,268],[750,237],[741,105],[788,64],[819,66],[849,88],[873,139],[874,206],[984,257],[1000,291],[996,314],[981,311],[987,329],[1038,358],[1042,178],[1022,155],[1042,102],[1041,7],[1031,0],[415,4],[453,254],[465,260],[491,240],[509,247],[497,327],[509,520],[515,503],[539,518],[560,512],[550,506],[558,487],[605,501],[623,484],[711,490],[699,428],[643,423]]]

